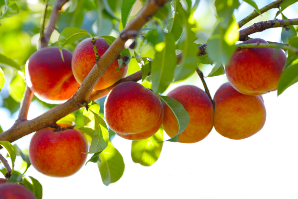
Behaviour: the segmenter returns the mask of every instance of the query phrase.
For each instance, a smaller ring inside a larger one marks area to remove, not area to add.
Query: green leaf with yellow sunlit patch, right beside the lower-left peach
[[[95,124],[92,142],[88,153],[97,153],[103,151],[108,146],[109,132],[104,120],[95,112],[92,111],[92,113],[94,114]]]

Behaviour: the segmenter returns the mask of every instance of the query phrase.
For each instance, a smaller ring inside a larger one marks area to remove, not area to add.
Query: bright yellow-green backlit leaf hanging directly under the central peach
[[[162,140],[163,130],[160,128],[153,136],[145,140],[133,141],[131,152],[133,161],[144,166],[151,166],[159,158]]]

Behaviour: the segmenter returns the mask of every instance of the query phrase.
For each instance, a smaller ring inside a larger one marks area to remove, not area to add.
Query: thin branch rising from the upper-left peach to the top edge
[[[51,38],[53,31],[55,30],[55,24],[60,14],[62,6],[69,0],[57,0],[54,9],[50,16],[50,24],[47,28],[46,34],[40,39],[40,47],[47,47]]]

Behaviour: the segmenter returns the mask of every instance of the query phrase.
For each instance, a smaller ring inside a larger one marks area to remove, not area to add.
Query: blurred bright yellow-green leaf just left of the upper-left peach
[[[10,82],[9,94],[11,98],[17,102],[21,102],[26,89],[26,83],[23,77],[16,73]]]

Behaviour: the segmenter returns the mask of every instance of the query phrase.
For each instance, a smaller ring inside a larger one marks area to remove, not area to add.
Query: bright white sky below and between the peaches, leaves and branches
[[[261,8],[273,0],[255,1]],[[243,3],[235,11],[236,20],[241,20],[252,11],[250,5]],[[254,22],[273,19],[276,12],[277,9],[270,10],[244,27]],[[297,13],[297,3],[284,11],[288,18],[297,18]],[[207,0],[201,0],[195,17],[205,17],[208,22],[205,25],[212,28],[215,17],[213,8],[208,5]],[[281,42],[281,30],[273,28],[255,33],[251,37]],[[204,68],[204,74],[207,75],[211,69],[212,67]],[[206,78],[211,95],[214,96],[217,89],[226,81],[224,75]],[[197,74],[194,74],[183,83],[171,85],[169,91],[185,84],[204,89]],[[88,163],[75,175],[67,178],[47,177],[32,166],[26,175],[33,176],[42,184],[43,199],[298,198],[297,91],[298,84],[287,89],[280,97],[277,97],[277,92],[263,95],[267,111],[266,123],[263,129],[252,137],[230,140],[213,129],[198,143],[165,142],[159,159],[151,167],[135,164],[131,158],[132,141],[116,136],[113,145],[124,158],[125,172],[118,182],[108,187],[103,185],[98,167],[94,163]],[[46,109],[33,102],[28,119],[44,111]],[[8,129],[17,117],[17,113],[10,117],[10,113],[4,108],[0,108],[0,115],[3,130]],[[27,135],[14,143],[26,149],[32,135]],[[166,138],[165,134],[164,139]],[[21,162],[21,159],[17,158],[15,165],[18,166]]]

